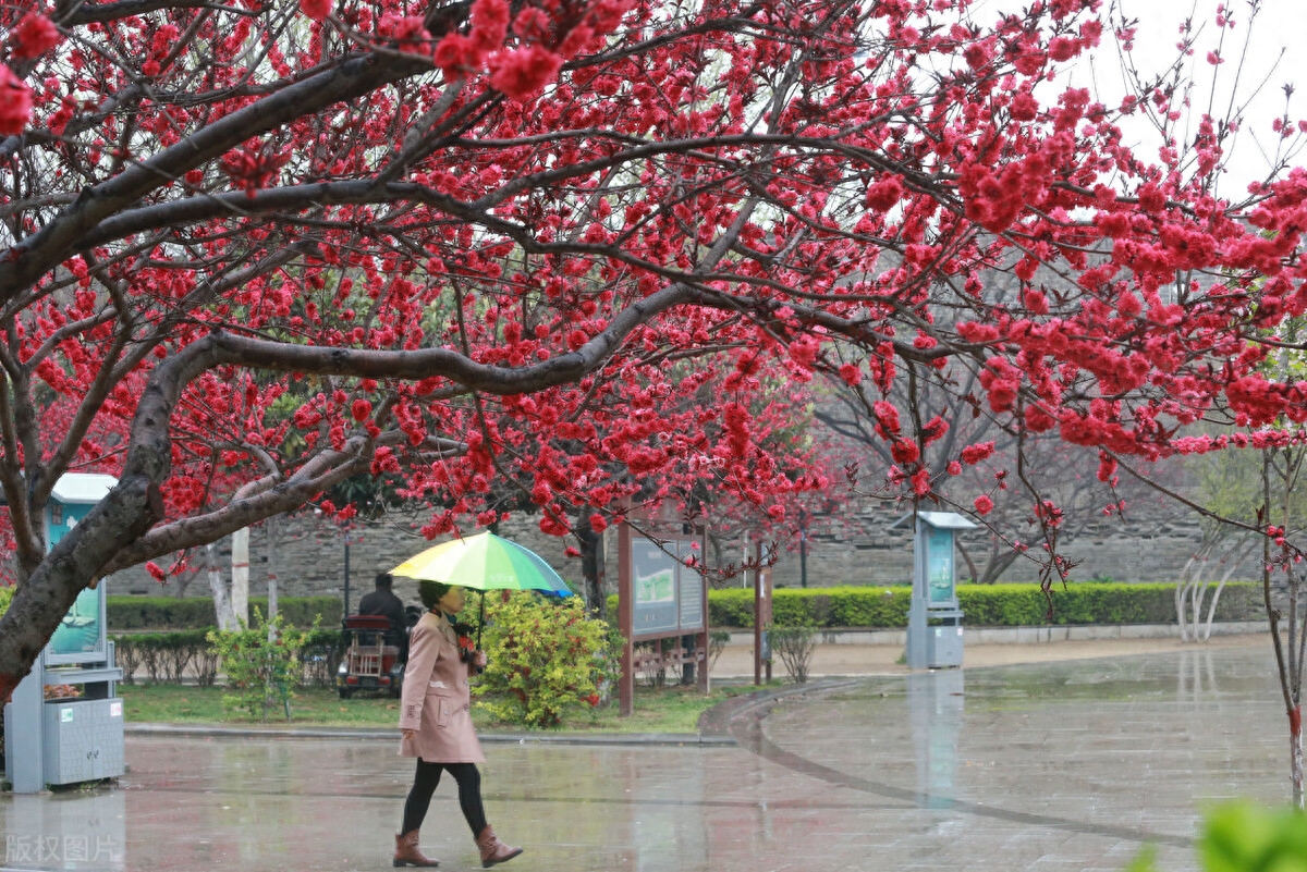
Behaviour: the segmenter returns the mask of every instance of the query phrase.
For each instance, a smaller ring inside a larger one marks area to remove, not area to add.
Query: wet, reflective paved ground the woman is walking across
[[[1281,700],[1269,642],[827,680],[716,741],[486,743],[482,783],[516,872],[1189,872],[1209,804],[1287,802]],[[0,868],[391,868],[396,745],[129,735],[116,788],[0,796]],[[480,868],[452,783],[422,847]]]

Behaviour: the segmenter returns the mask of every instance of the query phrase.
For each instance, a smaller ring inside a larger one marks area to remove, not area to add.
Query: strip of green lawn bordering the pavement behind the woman
[[[714,705],[753,691],[752,684],[718,685],[708,696],[694,687],[635,688],[634,713],[622,718],[617,701],[579,706],[563,718],[559,732],[697,732],[699,715]],[[127,721],[137,723],[255,726],[261,722],[225,711],[221,687],[176,684],[119,684]],[[400,701],[388,696],[341,700],[328,688],[302,688],[290,701],[290,721],[269,715],[268,726],[382,727],[399,730]],[[472,721],[485,732],[527,732],[516,724],[491,721],[472,706]]]

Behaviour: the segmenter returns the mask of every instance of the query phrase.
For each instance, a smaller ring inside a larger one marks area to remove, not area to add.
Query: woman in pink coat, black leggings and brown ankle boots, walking
[[[521,854],[495,838],[481,804],[481,773],[485,762],[481,743],[472,728],[468,679],[486,663],[476,650],[471,628],[457,624],[464,590],[423,581],[420,586],[422,615],[409,638],[400,705],[400,755],[417,757],[417,774],[404,803],[404,822],[395,835],[395,865],[438,865],[418,850],[418,829],[431,804],[431,795],[448,771],[459,785],[459,805],[481,851],[481,867],[489,868]]]

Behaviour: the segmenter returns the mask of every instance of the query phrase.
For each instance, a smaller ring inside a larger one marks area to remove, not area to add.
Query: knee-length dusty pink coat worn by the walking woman
[[[426,762],[485,762],[472,728],[469,664],[459,659],[457,637],[444,615],[422,615],[409,637],[400,698],[400,756]]]

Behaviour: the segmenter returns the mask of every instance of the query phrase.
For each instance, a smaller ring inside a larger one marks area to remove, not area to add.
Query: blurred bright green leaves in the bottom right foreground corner
[[[1294,808],[1229,803],[1208,816],[1199,841],[1204,872],[1307,872],[1307,816]],[[1128,872],[1154,872],[1141,854]]]

